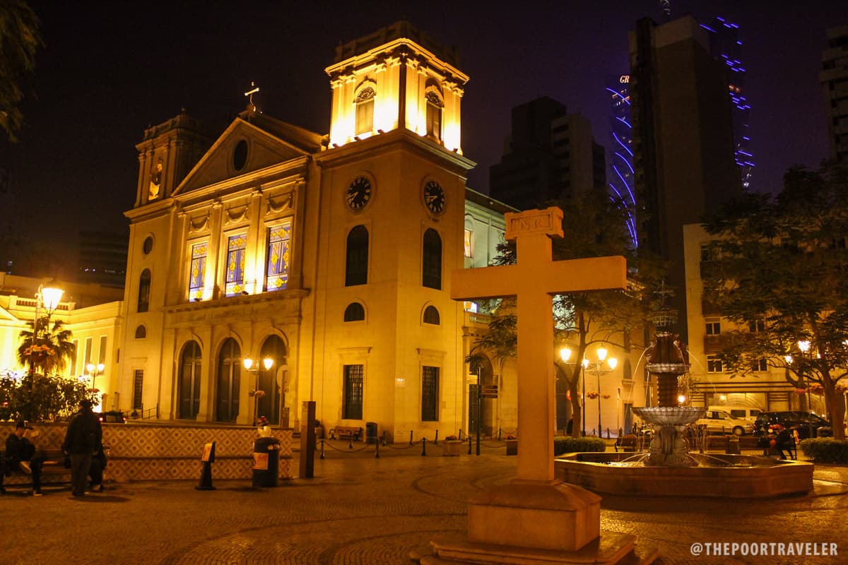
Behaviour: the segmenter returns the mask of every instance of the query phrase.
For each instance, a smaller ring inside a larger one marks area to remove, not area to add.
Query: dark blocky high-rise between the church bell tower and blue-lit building
[[[604,168],[604,148],[594,141],[589,119],[539,97],[512,108],[504,155],[489,168],[489,192],[515,208],[536,208],[603,189]]]

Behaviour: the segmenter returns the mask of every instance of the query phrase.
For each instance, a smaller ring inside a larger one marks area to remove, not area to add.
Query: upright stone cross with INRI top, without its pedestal
[[[516,264],[455,269],[454,300],[515,296],[518,303],[518,480],[554,480],[553,295],[623,289],[623,257],[554,261],[551,238],[562,237],[562,210],[507,213],[508,241],[516,241]]]

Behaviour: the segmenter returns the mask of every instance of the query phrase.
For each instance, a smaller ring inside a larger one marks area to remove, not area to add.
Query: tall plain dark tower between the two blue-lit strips
[[[727,73],[689,16],[663,25],[640,19],[629,44],[634,184],[645,209],[640,245],[669,262],[685,339],[683,225],[741,190]]]

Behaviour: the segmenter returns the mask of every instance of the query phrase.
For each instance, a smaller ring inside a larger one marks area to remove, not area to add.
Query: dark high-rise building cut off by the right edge
[[[848,163],[848,25],[828,30],[818,75],[827,102],[831,158]]]

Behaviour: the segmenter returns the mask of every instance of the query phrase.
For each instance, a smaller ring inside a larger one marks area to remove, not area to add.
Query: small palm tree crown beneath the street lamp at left
[[[50,374],[63,370],[76,356],[76,348],[70,341],[70,330],[64,330],[61,320],[39,319],[39,331],[35,332],[35,322],[27,322],[31,330],[20,332],[18,362],[29,368],[31,373]],[[46,330],[45,330],[46,328]]]

